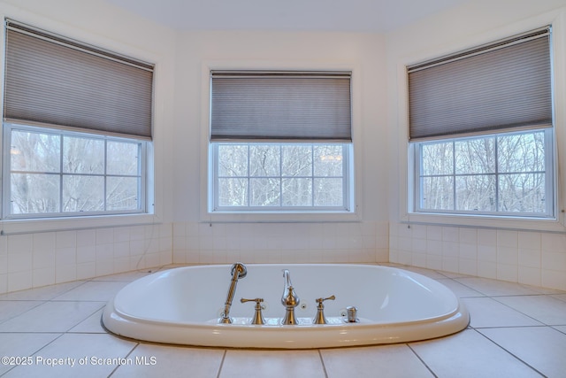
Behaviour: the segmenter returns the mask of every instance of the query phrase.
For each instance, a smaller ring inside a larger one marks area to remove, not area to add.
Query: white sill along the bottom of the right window
[[[411,212],[402,217],[402,223],[424,224],[433,226],[465,227],[465,228],[499,228],[521,231],[539,231],[566,233],[566,227],[560,220],[527,219],[513,217],[489,217],[457,214],[424,214]]]

